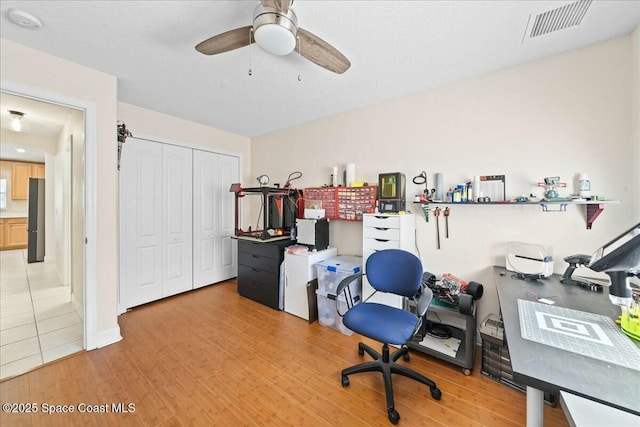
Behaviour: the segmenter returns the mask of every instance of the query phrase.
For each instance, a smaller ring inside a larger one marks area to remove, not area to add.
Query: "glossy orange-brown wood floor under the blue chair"
[[[340,371],[363,359],[358,335],[340,332],[240,297],[224,282],[120,316],[124,339],[52,362],[0,383],[3,404],[35,403],[36,414],[7,414],[3,426],[388,426],[382,378]],[[377,343],[367,341],[378,347]],[[368,357],[368,356],[365,356]],[[412,352],[408,362],[436,381],[394,378],[401,426],[523,426],[525,395],[480,374]],[[134,404],[114,413],[112,404]],[[73,414],[42,414],[72,405]],[[108,413],[78,413],[82,405]],[[3,406],[4,408],[4,406]],[[96,409],[102,409],[100,407]],[[545,426],[567,426],[545,405]]]

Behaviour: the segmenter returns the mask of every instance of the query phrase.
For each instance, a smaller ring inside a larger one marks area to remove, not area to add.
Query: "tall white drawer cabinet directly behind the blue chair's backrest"
[[[413,214],[365,214],[362,217],[362,226],[362,262],[365,272],[367,258],[376,251],[403,249],[416,253],[415,216]],[[363,299],[372,293],[373,288],[365,277],[365,280],[362,281]],[[397,295],[378,292],[370,301],[402,308],[402,297]]]

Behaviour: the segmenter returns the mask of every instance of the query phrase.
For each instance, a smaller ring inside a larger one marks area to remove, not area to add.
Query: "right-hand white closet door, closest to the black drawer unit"
[[[193,151],[193,287],[237,276],[234,197],[235,156]]]

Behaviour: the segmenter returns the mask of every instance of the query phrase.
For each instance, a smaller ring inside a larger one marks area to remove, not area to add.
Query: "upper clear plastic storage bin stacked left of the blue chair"
[[[318,272],[318,291],[322,295],[335,295],[342,279],[362,271],[362,257],[339,255],[316,264]],[[362,278],[349,285],[351,295],[362,295]]]

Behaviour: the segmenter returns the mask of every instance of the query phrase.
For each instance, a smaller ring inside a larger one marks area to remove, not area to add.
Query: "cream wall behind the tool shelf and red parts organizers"
[[[592,230],[579,206],[565,213],[542,213],[536,205],[453,206],[449,239],[440,224],[441,250],[435,221],[426,223],[411,204],[425,269],[483,283],[482,319],[498,312],[490,272],[504,265],[506,242],[552,245],[562,272],[564,256],[591,253],[637,221],[631,50],[631,38],[623,37],[260,136],[251,141],[251,170],[282,177],[276,181],[299,170],[304,176],[294,186],[303,188],[328,183],[332,166],[354,162],[357,180],[369,183],[381,172],[404,172],[408,195],[423,188],[411,183],[423,170],[429,187],[436,172],[447,187],[473,175],[506,174],[510,196],[541,195],[536,183],[555,175],[568,183],[561,195],[568,194],[586,172],[595,194],[622,200],[607,205]],[[342,254],[361,253],[361,223],[332,221],[330,239]]]

